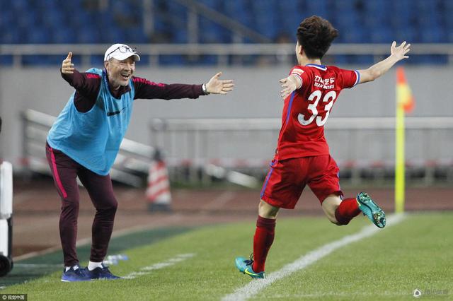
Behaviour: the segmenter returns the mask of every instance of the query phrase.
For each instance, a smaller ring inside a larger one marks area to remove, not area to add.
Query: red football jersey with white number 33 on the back
[[[276,158],[328,155],[324,124],[341,90],[357,85],[360,73],[308,64],[294,66],[289,74],[299,76],[302,86],[285,99]]]

